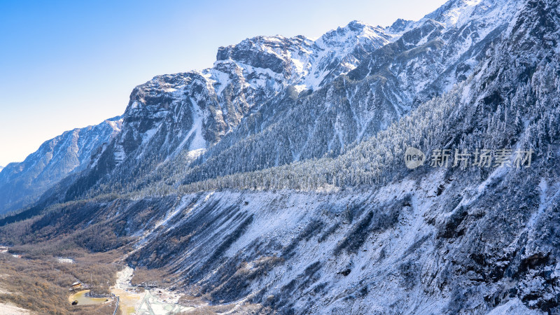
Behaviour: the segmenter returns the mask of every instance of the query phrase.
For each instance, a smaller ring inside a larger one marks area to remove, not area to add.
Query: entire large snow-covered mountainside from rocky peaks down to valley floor
[[[130,266],[236,311],[558,314],[559,16],[557,0],[451,0],[220,48],[136,87],[89,166],[0,227],[130,246]],[[534,155],[410,170],[409,146]]]

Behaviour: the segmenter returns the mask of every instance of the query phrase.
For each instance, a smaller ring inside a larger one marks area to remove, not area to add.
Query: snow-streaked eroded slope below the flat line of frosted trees
[[[451,288],[458,283],[486,292],[479,293],[483,295],[512,281],[479,286],[470,280],[476,279],[474,272],[456,278],[447,274],[450,260],[468,259],[461,258],[461,252],[469,250],[474,236],[456,238],[446,235],[446,229],[464,207],[473,213],[465,213],[464,221],[477,216],[479,207],[489,207],[481,200],[507,182],[506,176],[496,172],[477,184],[449,178],[442,169],[379,190],[185,195],[148,228],[129,260],[172,267],[188,293],[202,290],[228,303],[283,310],[288,303],[288,309],[314,314],[438,313],[452,309],[458,293]],[[540,197],[545,203],[541,207],[549,209],[558,189],[548,192],[542,184],[540,190],[547,196]],[[538,209],[534,214],[542,216]],[[537,220],[529,217],[518,233],[535,233]],[[472,224],[477,229],[478,223]],[[499,237],[508,239],[507,234]],[[510,241],[517,244],[517,239]],[[484,312],[486,304],[478,295],[470,296],[463,310]],[[517,297],[504,297],[493,311],[532,314]]]

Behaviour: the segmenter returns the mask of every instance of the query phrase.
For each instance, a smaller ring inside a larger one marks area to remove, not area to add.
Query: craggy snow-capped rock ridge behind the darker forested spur
[[[158,76],[134,89],[123,133],[106,150],[102,162],[69,188],[69,195],[80,195],[83,187],[99,180],[101,185],[111,178],[123,183],[138,180],[138,172],[145,175],[181,152],[186,153],[181,159],[187,155],[192,160],[236,130],[263,104],[281,98],[287,90],[312,89],[329,82],[355,68],[390,38],[383,29],[360,22],[316,41],[304,36],[259,36],[220,48],[211,69]],[[132,179],[130,174],[134,174]]]

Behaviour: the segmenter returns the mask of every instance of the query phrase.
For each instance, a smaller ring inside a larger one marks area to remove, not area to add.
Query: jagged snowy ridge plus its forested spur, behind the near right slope
[[[132,93],[102,166],[65,198],[339,155],[472,73],[515,12],[479,2],[451,1],[400,31],[351,22],[316,41],[250,38],[220,48],[212,69],[156,77]]]

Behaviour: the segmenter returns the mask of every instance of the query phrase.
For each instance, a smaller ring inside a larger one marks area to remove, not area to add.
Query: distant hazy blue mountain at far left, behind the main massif
[[[25,207],[68,174],[88,167],[92,155],[99,154],[120,132],[122,123],[116,117],[69,130],[45,141],[23,162],[0,169],[0,214]]]

